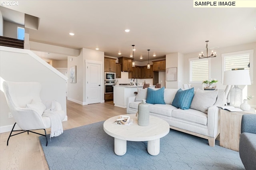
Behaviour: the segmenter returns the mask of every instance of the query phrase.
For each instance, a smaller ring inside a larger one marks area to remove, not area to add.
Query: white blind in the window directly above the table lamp
[[[229,71],[231,69],[247,69],[250,71],[250,67],[248,67],[249,63],[250,63],[250,53],[226,56],[225,71]]]

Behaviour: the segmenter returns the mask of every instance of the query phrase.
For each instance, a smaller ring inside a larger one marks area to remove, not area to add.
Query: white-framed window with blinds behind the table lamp
[[[252,49],[222,54],[222,81],[224,71],[232,69],[249,70],[251,81],[253,81],[253,52]]]

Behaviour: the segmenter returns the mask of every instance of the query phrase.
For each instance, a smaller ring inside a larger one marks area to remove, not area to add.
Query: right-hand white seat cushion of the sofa
[[[207,114],[194,109],[175,109],[172,111],[172,117],[201,125],[207,125]]]

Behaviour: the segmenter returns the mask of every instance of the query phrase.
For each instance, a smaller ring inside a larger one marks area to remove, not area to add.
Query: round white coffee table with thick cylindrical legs
[[[115,154],[122,156],[126,153],[126,141],[148,141],[148,153],[155,156],[160,152],[160,138],[170,131],[170,125],[158,117],[150,116],[148,126],[138,125],[135,114],[128,114],[133,119],[130,126],[116,125],[114,122],[119,116],[106,120],[103,124],[104,131],[114,137]]]

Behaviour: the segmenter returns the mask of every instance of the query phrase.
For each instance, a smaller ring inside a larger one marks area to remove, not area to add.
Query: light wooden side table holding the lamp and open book
[[[240,112],[220,109],[220,146],[239,151],[241,120],[244,114],[255,114],[255,109]]]

